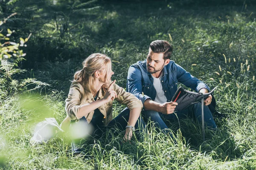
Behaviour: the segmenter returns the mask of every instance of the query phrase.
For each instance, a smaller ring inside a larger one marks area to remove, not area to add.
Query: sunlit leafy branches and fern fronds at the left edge
[[[14,16],[16,13],[11,14],[4,21],[0,22],[0,26],[6,23],[10,17]],[[7,97],[16,95],[18,92],[33,91],[38,88],[47,86],[47,83],[37,81],[33,78],[26,79],[16,79],[15,76],[24,73],[25,69],[18,68],[19,62],[21,62],[26,56],[20,47],[26,47],[25,40],[20,38],[20,43],[13,42],[10,37],[15,31],[11,31],[7,28],[6,36],[1,34],[3,30],[0,31],[0,105],[6,100]],[[15,41],[15,40],[14,40]]]

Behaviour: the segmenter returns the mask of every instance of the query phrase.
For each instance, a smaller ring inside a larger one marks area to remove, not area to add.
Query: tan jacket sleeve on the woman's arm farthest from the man
[[[70,86],[70,91],[66,99],[66,105],[65,105],[67,116],[69,116],[71,120],[80,119],[79,117],[76,116],[81,107],[80,102],[81,102],[81,85],[79,83],[72,83]]]

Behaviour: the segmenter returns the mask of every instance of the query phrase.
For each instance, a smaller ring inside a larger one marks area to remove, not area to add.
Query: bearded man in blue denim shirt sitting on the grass
[[[201,122],[201,103],[175,112],[177,116],[172,114],[178,105],[176,102],[171,102],[177,91],[177,82],[196,92],[209,92],[209,87],[206,84],[170,60],[171,54],[172,46],[169,42],[163,40],[151,42],[147,59],[139,61],[129,68],[126,87],[128,92],[142,101],[142,115],[145,121],[150,119],[165,133],[169,132],[166,120],[172,121],[177,117],[180,119],[193,115]],[[207,106],[211,102],[212,96],[204,101],[204,121],[208,127],[216,129],[212,113]]]

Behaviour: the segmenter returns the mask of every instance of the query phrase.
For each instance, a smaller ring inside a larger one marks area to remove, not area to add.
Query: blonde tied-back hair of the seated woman
[[[111,59],[105,54],[94,53],[83,61],[83,69],[76,71],[74,82],[79,82],[85,89],[95,92],[93,83],[95,81],[95,71],[106,72],[106,76],[111,71]]]

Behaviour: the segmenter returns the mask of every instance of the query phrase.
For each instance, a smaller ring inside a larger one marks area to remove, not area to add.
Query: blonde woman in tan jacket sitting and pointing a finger
[[[116,80],[111,82],[111,76],[114,72],[111,70],[111,59],[104,54],[91,54],[83,62],[83,69],[77,71],[74,80],[70,86],[70,91],[66,99],[67,118],[61,123],[69,124],[71,127],[75,124],[77,129],[71,133],[83,133],[88,130],[81,128],[76,124],[89,124],[93,127],[93,133],[96,130],[117,126],[125,130],[124,139],[130,140],[132,132],[139,124],[144,126],[140,117],[140,111],[143,107],[142,102],[133,94],[126,92],[123,88],[115,84]],[[112,116],[113,100],[126,105],[115,119]],[[73,142],[73,149],[76,151],[78,142]]]

